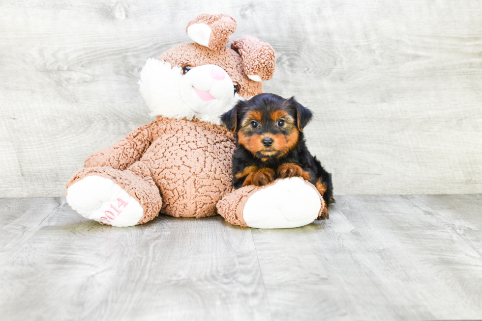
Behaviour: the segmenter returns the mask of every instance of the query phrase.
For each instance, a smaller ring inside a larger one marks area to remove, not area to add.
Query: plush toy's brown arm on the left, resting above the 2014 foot
[[[139,160],[151,145],[154,123],[141,126],[113,145],[90,154],[84,167],[109,166],[119,170],[126,169]]]

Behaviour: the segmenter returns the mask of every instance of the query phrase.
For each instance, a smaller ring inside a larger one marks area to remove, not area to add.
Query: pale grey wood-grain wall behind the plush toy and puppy
[[[139,70],[203,12],[274,47],[336,194],[482,193],[482,1],[1,0],[0,197],[63,195],[150,122]]]

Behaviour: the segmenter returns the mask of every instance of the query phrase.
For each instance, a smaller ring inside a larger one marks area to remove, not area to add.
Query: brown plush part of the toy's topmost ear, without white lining
[[[193,20],[189,21],[187,28],[194,24],[203,23],[211,28],[208,47],[211,50],[221,50],[224,45],[229,42],[229,35],[236,31],[238,23],[236,20],[226,14],[211,15],[203,13]]]

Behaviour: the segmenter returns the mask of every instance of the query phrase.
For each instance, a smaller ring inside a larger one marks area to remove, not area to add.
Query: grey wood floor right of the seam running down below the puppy
[[[481,209],[480,195],[338,196],[328,221],[253,230],[273,318],[479,320]],[[446,223],[459,214],[469,241]]]

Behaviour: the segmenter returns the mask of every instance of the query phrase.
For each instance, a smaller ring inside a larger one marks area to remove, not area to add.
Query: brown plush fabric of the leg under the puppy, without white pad
[[[271,182],[270,184],[262,187],[249,185],[241,187],[239,189],[235,189],[231,194],[226,195],[217,203],[218,214],[224,217],[224,219],[226,219],[231,224],[247,226],[242,214],[244,210],[244,205],[246,204],[249,197],[261,189],[275,185],[279,181],[279,179],[275,180],[274,182]],[[322,210],[325,206],[325,201],[323,200],[323,197],[320,195],[316,187],[314,187],[311,183],[309,183],[308,181],[304,181],[304,183],[307,186],[312,187],[316,191],[316,194],[318,195],[321,202],[321,208],[318,216],[322,216]],[[287,201],[292,202],[293,200],[290,199]]]

